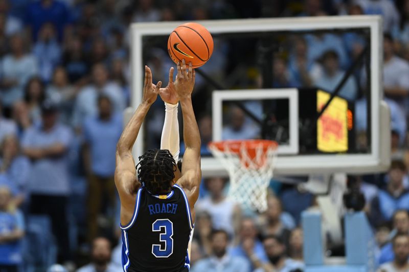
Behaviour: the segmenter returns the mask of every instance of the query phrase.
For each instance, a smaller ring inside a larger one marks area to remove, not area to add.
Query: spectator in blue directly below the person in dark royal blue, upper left
[[[61,60],[61,47],[58,44],[52,23],[44,23],[33,53],[39,62],[39,74],[44,82],[50,82],[55,67]]]

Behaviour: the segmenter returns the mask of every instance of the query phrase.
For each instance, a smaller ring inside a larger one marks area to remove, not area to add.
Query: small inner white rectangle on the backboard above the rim
[[[295,88],[213,91],[212,114],[214,116],[220,116],[220,118],[213,117],[213,140],[222,140],[223,120],[221,116],[224,101],[252,101],[274,98],[287,98],[289,103],[289,144],[280,144],[277,149],[277,154],[298,154],[298,90]]]

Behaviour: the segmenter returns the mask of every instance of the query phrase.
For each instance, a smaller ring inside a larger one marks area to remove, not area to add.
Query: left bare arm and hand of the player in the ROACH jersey
[[[156,100],[161,85],[161,81],[156,86],[152,84],[152,73],[149,67],[145,66],[142,103],[125,126],[117,143],[115,184],[119,192],[121,205],[131,211],[133,211],[135,204],[134,194],[141,186],[136,178],[135,162],[131,153],[132,147],[150,106]]]

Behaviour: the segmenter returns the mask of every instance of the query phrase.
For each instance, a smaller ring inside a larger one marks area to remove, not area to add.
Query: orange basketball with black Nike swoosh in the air
[[[169,36],[168,52],[175,62],[192,62],[197,68],[205,64],[213,53],[213,38],[210,32],[199,23],[188,22],[175,28]]]

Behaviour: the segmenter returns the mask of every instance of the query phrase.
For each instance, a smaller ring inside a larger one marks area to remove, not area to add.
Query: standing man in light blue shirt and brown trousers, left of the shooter
[[[98,97],[98,115],[88,117],[83,126],[84,162],[88,177],[88,238],[97,236],[97,217],[102,207],[102,195],[107,195],[110,207],[115,207],[116,145],[123,129],[122,114],[113,113],[108,96]]]

